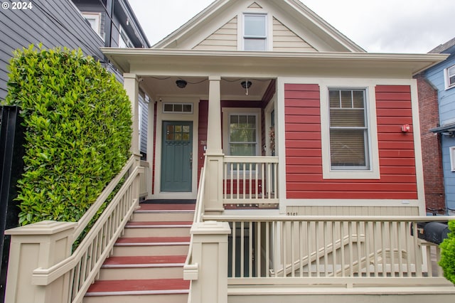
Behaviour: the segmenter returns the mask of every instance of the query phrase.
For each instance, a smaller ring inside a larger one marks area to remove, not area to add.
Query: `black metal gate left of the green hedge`
[[[6,271],[8,269],[10,236],[6,229],[18,226],[19,208],[16,183],[23,171],[23,126],[16,106],[1,107],[0,124],[0,296],[4,302]]]

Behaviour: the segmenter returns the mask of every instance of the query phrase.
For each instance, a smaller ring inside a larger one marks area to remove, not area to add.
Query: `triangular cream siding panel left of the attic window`
[[[196,50],[237,50],[237,17],[205,38],[193,49]]]

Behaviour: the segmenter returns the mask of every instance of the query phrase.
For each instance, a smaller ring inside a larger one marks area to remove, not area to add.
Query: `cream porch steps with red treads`
[[[183,280],[194,204],[141,204],[84,303],[186,303]]]

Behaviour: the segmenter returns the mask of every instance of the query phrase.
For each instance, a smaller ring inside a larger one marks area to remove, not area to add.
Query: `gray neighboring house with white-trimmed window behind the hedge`
[[[17,48],[43,43],[45,48],[81,48],[105,62],[100,47],[149,48],[149,41],[127,0],[40,0],[27,9],[0,10],[0,101],[7,93],[9,60]],[[122,80],[110,63],[108,70]],[[146,109],[146,95],[139,96]],[[147,110],[141,110],[141,152],[146,154]]]

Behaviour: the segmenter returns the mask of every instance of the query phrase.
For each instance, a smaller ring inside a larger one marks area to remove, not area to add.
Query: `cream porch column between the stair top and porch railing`
[[[210,76],[208,89],[207,156],[205,182],[205,213],[224,211],[223,208],[223,148],[221,145],[220,76]]]

